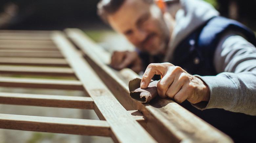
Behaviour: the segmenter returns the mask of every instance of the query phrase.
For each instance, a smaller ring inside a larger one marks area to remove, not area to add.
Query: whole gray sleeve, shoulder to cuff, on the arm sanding
[[[221,38],[214,54],[216,76],[199,76],[210,89],[198,109],[222,108],[256,116],[256,48],[234,32]]]

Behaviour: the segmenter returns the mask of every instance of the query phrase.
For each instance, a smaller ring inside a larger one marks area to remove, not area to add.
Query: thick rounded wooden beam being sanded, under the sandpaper
[[[227,135],[170,99],[157,98],[146,104],[133,100],[129,96],[127,84],[123,83],[119,76],[98,58],[99,55],[96,55],[96,52],[93,52],[96,45],[78,29],[68,29],[66,32],[85,53],[86,59],[101,79],[109,83],[106,85],[118,101],[126,109],[139,110],[143,113],[146,118],[146,124],[143,126],[158,142],[232,142]],[[120,72],[122,73],[127,74],[127,72]]]

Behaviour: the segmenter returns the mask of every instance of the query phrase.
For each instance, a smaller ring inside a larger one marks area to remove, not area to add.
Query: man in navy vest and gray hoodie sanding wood
[[[236,142],[256,140],[256,39],[248,28],[201,0],[102,0],[98,13],[137,47],[114,52],[114,69],[145,70],[141,88],[159,74],[160,97]]]

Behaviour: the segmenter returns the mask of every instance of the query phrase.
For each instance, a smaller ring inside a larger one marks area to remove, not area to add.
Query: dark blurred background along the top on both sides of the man
[[[96,14],[99,0],[0,0],[0,29],[109,28]],[[205,0],[225,17],[256,31],[256,0]]]

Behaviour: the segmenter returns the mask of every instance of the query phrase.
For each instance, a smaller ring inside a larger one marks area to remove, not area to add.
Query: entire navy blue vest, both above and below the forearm
[[[210,19],[182,40],[174,51],[174,57],[170,63],[180,66],[192,75],[216,75],[213,65],[214,52],[220,37],[228,30],[242,33],[256,46],[255,35],[251,30],[237,21],[218,16]],[[149,56],[145,53],[140,53],[140,56],[146,67],[149,64]],[[161,57],[153,57],[153,62],[161,62]],[[229,135],[235,142],[256,141],[256,116],[217,108],[201,111],[188,101],[181,103],[181,106]]]

